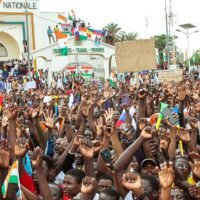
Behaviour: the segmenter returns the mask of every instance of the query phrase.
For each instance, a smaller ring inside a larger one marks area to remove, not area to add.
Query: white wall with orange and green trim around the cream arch
[[[23,40],[27,40],[26,9],[19,7],[5,8],[5,5],[8,5],[9,2],[24,3],[25,0],[2,0],[0,3],[0,32],[4,31],[15,38],[20,48],[20,51],[17,51],[16,58],[21,58],[24,53]],[[51,26],[52,29],[55,27],[58,22],[58,13],[40,12],[39,0],[28,0],[28,3],[31,6],[34,4],[36,8],[30,7],[27,13],[30,51],[33,51],[49,45],[47,28],[48,26]],[[16,28],[10,29],[10,27]],[[7,44],[4,45],[7,48]]]

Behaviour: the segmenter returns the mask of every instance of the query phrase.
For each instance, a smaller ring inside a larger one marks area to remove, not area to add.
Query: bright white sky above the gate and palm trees
[[[169,0],[168,0],[169,1]],[[200,0],[172,0],[175,29],[183,23],[192,23],[200,31]],[[147,36],[145,16],[148,19],[149,36],[166,33],[165,0],[40,0],[41,11],[66,12],[74,10],[77,17],[90,22],[95,29],[107,23],[118,23],[124,31],[138,32],[140,38]],[[192,30],[191,30],[192,31]],[[184,34],[177,33],[177,45],[185,52],[187,40]],[[190,50],[200,49],[200,32],[191,35]]]

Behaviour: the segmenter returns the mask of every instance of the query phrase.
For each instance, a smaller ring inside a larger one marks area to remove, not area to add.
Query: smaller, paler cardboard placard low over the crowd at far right
[[[183,70],[161,70],[158,71],[158,80],[160,83],[162,82],[170,82],[175,81],[179,82],[183,80]]]

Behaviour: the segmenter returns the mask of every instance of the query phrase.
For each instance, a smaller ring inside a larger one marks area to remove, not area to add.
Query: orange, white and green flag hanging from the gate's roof
[[[58,40],[58,45],[59,45],[59,48],[60,48],[60,54],[62,56],[66,56],[67,52],[68,52],[68,49],[67,49],[67,37],[68,37],[68,34],[63,33],[61,31],[58,31],[56,33],[56,39]]]

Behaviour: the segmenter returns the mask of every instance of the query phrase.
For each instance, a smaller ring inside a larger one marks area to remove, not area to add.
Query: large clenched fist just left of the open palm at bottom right
[[[122,176],[122,184],[129,191],[135,191],[142,188],[141,178],[136,173],[127,172]]]

